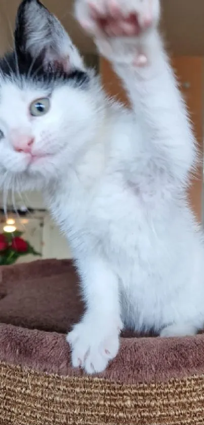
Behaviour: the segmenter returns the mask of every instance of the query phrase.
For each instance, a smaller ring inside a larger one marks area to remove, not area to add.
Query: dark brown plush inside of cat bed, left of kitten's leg
[[[0,267],[0,323],[66,333],[83,313],[69,260]]]

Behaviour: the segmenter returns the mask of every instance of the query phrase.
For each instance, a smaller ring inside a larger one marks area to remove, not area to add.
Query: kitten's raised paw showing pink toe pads
[[[137,36],[158,23],[159,0],[76,0],[75,15],[96,38]]]

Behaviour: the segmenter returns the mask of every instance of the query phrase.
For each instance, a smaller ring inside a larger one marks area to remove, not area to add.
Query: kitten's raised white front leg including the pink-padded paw
[[[172,191],[175,197],[175,191],[188,184],[197,154],[186,108],[157,29],[159,0],[76,0],[75,14],[94,36],[100,53],[111,61],[140,126],[141,144],[137,137],[135,157],[133,151],[133,183],[142,192],[165,187],[165,194]],[[160,181],[164,182],[161,186]]]

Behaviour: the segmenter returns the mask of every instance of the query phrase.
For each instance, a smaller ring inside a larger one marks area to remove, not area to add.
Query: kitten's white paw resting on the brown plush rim
[[[118,325],[118,326],[117,326]],[[119,349],[121,324],[83,320],[67,335],[71,346],[73,367],[83,367],[89,374],[102,372]]]

